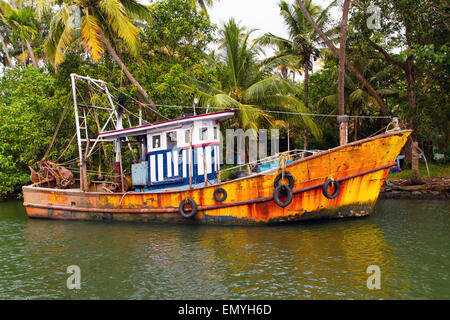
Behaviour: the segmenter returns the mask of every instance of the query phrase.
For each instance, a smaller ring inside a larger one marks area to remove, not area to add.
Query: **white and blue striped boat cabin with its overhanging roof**
[[[233,116],[234,110],[184,116],[103,132],[100,137],[135,137],[139,141],[139,161],[131,168],[136,191],[203,187],[217,183],[220,123]]]

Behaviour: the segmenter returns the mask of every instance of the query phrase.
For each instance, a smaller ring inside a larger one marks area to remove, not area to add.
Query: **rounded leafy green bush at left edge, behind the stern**
[[[0,79],[0,197],[29,181],[28,166],[50,144],[62,101],[55,79],[28,67]]]

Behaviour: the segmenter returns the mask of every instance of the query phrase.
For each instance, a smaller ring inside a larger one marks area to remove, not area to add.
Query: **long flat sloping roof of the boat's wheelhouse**
[[[151,134],[152,132],[164,132],[178,128],[181,125],[188,124],[195,121],[213,120],[222,122],[234,116],[235,110],[226,110],[214,113],[200,114],[196,116],[189,116],[184,118],[172,119],[157,123],[145,124],[138,127],[131,127],[120,130],[105,131],[100,133],[102,138],[122,138],[130,136],[141,136]]]

